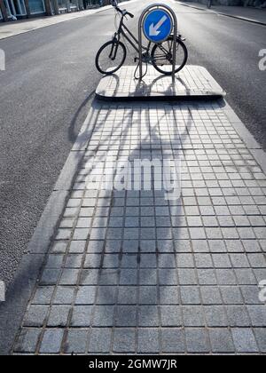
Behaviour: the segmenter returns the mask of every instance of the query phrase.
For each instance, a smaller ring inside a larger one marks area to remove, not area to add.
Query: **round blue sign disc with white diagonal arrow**
[[[145,16],[144,34],[153,43],[161,43],[170,36],[173,21],[170,14],[162,9],[155,9]]]

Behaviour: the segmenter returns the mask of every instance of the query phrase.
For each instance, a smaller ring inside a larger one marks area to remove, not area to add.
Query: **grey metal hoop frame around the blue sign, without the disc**
[[[176,71],[176,38],[177,38],[177,19],[176,13],[166,4],[152,4],[149,5],[144,12],[142,12],[140,19],[138,20],[138,50],[139,50],[139,80],[143,78],[143,66],[142,66],[142,53],[143,53],[143,44],[142,44],[142,36],[143,36],[143,21],[145,16],[148,12],[153,9],[163,9],[164,11],[168,12],[173,20],[173,28],[174,28],[174,44],[173,44],[173,72],[172,76],[175,79],[175,71]]]

